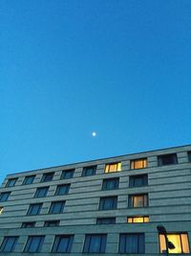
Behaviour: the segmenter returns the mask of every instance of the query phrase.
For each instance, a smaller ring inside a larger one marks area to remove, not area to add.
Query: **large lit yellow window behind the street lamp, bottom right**
[[[188,235],[186,233],[167,234],[167,239],[175,248],[168,248],[169,253],[190,253]],[[159,251],[166,253],[166,242],[163,234],[159,234]]]

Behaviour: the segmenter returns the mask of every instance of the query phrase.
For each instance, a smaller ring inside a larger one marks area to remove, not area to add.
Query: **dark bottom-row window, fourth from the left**
[[[106,249],[107,235],[92,234],[86,235],[83,252],[104,253]]]

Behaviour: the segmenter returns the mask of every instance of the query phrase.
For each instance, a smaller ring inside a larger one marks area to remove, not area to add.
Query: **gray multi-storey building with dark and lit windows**
[[[191,145],[8,175],[0,254],[190,255]]]

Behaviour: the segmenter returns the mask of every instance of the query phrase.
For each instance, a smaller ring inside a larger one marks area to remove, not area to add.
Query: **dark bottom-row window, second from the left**
[[[30,236],[25,245],[24,252],[40,252],[44,239],[44,236]]]

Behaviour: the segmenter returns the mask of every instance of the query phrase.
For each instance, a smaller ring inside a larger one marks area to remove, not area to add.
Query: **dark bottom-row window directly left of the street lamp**
[[[120,234],[119,235],[119,253],[145,253],[144,234]]]

